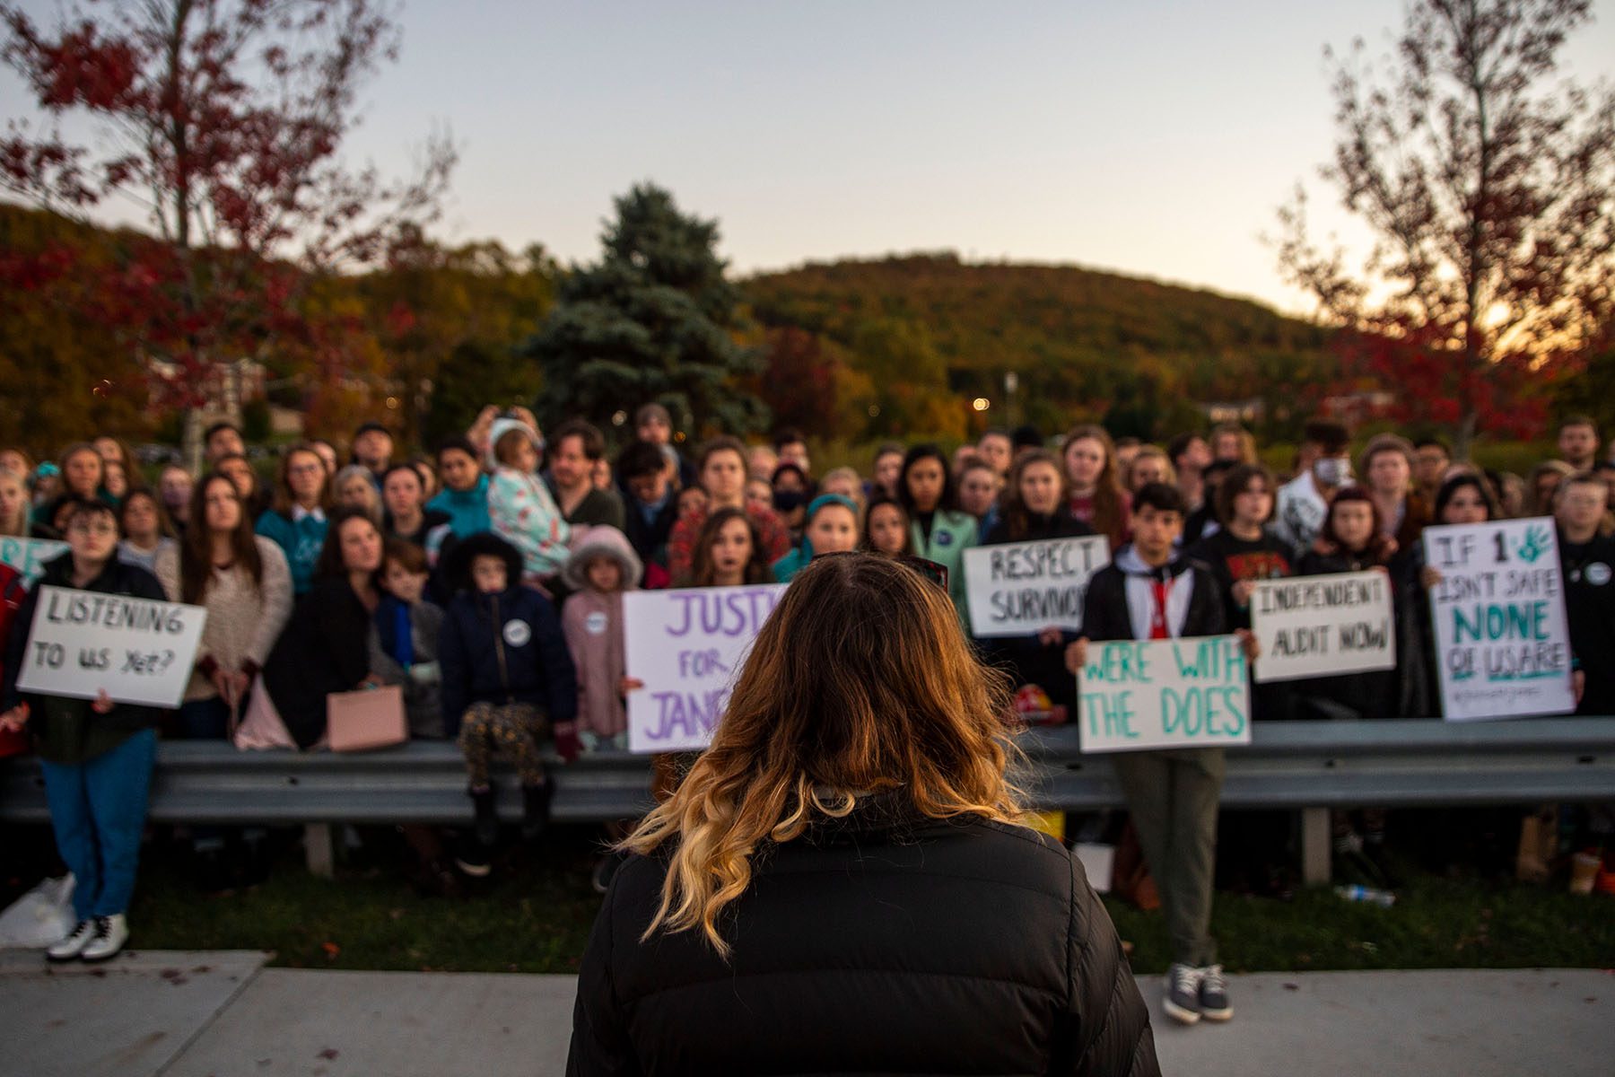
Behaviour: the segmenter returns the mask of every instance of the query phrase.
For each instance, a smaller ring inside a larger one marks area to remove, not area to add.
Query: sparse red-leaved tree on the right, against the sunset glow
[[[1279,265],[1326,316],[1378,337],[1349,373],[1441,420],[1460,454],[1531,418],[1541,388],[1609,325],[1615,92],[1560,84],[1588,0],[1413,0],[1394,60],[1334,66],[1324,178],[1376,242],[1321,249],[1307,199],[1282,208]]]

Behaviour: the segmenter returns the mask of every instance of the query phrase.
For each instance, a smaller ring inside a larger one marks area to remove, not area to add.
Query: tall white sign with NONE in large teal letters
[[[1552,518],[1424,528],[1424,564],[1447,720],[1576,709]]]

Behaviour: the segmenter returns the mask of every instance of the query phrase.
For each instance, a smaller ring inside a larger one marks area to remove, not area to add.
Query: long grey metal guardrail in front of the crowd
[[[1124,804],[1105,756],[1079,751],[1077,728],[1030,730],[1017,778],[1034,806]],[[631,819],[651,804],[649,761],[586,754],[552,769],[554,819]],[[520,812],[514,773],[502,812]],[[1308,880],[1328,878],[1328,811],[1347,806],[1531,804],[1615,799],[1615,717],[1512,722],[1269,722],[1227,752],[1226,807],[1303,809]],[[31,759],[0,761],[0,820],[47,822]],[[312,823],[310,864],[329,867],[329,823],[468,823],[465,764],[454,744],[412,741],[373,752],[241,752],[220,741],[158,746],[157,822]]]

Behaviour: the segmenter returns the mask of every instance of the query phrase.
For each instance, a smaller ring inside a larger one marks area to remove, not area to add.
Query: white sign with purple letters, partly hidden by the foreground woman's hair
[[[735,675],[785,586],[628,591],[622,596],[628,751],[694,751],[712,740]]]

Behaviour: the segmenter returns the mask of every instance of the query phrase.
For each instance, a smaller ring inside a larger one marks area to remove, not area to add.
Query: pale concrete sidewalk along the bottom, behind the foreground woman
[[[92,969],[0,954],[10,1077],[560,1074],[575,979],[265,969],[255,953],[136,953]],[[1615,975],[1260,974],[1239,1016],[1184,1029],[1155,1009],[1166,1074],[1615,1072]]]

